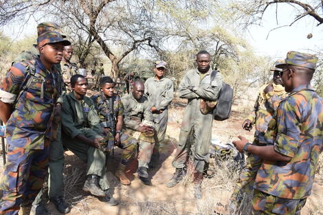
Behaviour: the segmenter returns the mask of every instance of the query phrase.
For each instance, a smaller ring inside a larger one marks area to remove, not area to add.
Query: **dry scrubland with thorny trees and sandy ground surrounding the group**
[[[288,1],[277,2],[271,1],[271,6],[288,4]],[[317,6],[322,4],[321,1],[311,1],[313,10],[307,8],[311,10],[311,14],[304,12],[306,8],[299,7],[298,3],[302,1],[290,2],[295,7],[296,16],[293,17],[296,17],[296,21],[299,17],[309,15],[314,17],[313,22],[323,22],[320,17],[322,8]],[[68,12],[66,8],[69,8]],[[269,67],[276,58],[256,56],[252,45],[243,38],[248,25],[261,23],[267,8],[267,2],[262,0],[16,0],[3,1],[0,27],[13,23],[20,28],[21,24],[28,24],[27,17],[36,19],[37,16],[43,17],[46,14],[47,20],[37,22],[54,20],[63,27],[74,45],[72,61],[80,62],[81,65],[87,63],[89,69],[93,68],[94,62],[102,62],[106,72],[112,76],[129,71],[136,71],[142,76],[144,72],[152,71],[153,61],[161,59],[168,63],[167,75],[179,82],[183,71],[195,66],[194,54],[207,49],[212,55],[212,65],[216,65],[225,82],[231,84],[235,92],[236,105],[232,117],[225,122],[214,122],[213,128],[214,137],[227,142],[239,134],[252,139],[252,133],[242,131],[241,123],[243,117],[252,110],[256,89],[272,76]],[[279,17],[280,14],[276,16]],[[19,40],[16,35],[8,36],[4,34],[7,32],[0,32],[0,81],[12,59],[36,41],[36,26],[34,27],[35,35]],[[322,53],[320,49],[316,52],[319,55]],[[319,66],[313,84],[320,95],[323,95],[322,61]],[[178,142],[185,103],[184,100],[176,99],[170,109],[168,144],[163,148],[163,163],[151,172],[152,187],[142,185],[131,168],[129,177],[133,179],[132,185],[120,185],[113,177],[114,168],[120,159],[120,150],[116,149],[115,156],[109,159],[111,186],[115,188],[115,196],[121,202],[118,207],[105,207],[96,198],[82,192],[86,166],[71,152],[66,152],[65,199],[73,207],[71,214],[207,215],[216,214],[214,210],[219,214],[228,214],[224,205],[230,198],[238,172],[228,168],[230,165],[227,161],[210,166],[213,175],[203,182],[202,200],[196,201],[192,197],[190,174],[175,188],[168,189],[164,185],[174,172],[171,161]],[[321,155],[313,194],[302,214],[323,214],[322,164]],[[49,208],[52,214],[57,214],[54,205],[49,204]],[[248,208],[243,209],[241,214],[249,214],[247,210]]]

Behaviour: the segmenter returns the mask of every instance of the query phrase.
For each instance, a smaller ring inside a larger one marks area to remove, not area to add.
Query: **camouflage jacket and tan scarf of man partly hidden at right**
[[[256,103],[254,104],[254,111],[245,118],[245,120],[250,120],[252,124],[255,124],[254,142],[258,144],[266,144],[265,133],[268,123],[278,108],[280,101],[288,95],[285,90],[279,93],[274,90],[265,93],[264,89],[267,85],[265,84],[263,87],[260,87]]]

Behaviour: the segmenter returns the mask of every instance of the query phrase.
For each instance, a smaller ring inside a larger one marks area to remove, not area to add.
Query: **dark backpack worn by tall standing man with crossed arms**
[[[211,82],[214,80],[218,71],[214,70],[211,73]],[[233,98],[233,89],[225,82],[222,82],[222,87],[218,95],[216,106],[213,109],[213,118],[217,121],[227,120],[231,114]]]

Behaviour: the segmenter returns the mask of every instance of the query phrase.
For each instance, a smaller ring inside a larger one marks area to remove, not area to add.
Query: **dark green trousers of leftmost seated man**
[[[82,134],[89,139],[101,138],[91,128],[81,128]],[[107,155],[99,148],[89,146],[76,138],[71,139],[65,133],[62,134],[63,146],[71,150],[77,157],[87,163],[87,175],[96,174],[99,177],[99,184],[102,190],[110,188],[106,172],[106,157]]]

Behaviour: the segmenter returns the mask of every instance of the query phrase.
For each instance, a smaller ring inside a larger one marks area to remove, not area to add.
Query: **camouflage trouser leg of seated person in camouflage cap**
[[[127,133],[121,133],[118,147],[122,148],[120,163],[126,166],[137,150],[137,139]]]

